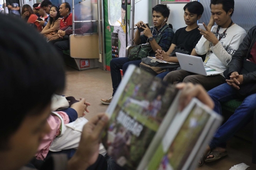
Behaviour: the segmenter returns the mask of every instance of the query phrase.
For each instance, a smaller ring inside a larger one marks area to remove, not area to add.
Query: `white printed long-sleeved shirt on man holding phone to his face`
[[[217,29],[218,26],[213,26],[211,32],[216,34]],[[217,35],[218,39],[226,29],[227,28],[220,27],[219,34]],[[227,29],[225,35],[215,46],[213,46],[212,42],[209,42],[202,36],[197,43],[195,50],[199,55],[207,53],[204,61],[205,66],[214,68],[219,72],[224,72],[229,68],[232,56],[238,50],[238,47],[245,36],[246,31],[242,27],[234,24]]]

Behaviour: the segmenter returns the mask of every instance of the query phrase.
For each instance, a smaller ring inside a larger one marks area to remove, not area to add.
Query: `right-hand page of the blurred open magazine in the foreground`
[[[192,162],[198,161],[221,121],[221,116],[192,99],[175,115],[147,170],[193,170]]]

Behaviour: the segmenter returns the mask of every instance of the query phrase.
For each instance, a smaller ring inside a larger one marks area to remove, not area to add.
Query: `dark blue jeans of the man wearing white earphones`
[[[117,88],[122,79],[120,69],[122,69],[123,74],[125,74],[130,64],[134,64],[137,67],[139,67],[139,63],[141,63],[141,60],[129,61],[127,57],[115,58],[110,61],[110,73],[111,73],[112,87],[113,87],[112,96],[114,96],[114,94],[116,93]]]

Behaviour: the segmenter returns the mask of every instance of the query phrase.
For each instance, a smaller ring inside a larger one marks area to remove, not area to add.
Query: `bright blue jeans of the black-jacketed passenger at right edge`
[[[208,92],[215,104],[214,111],[221,113],[221,102],[228,102],[238,99],[236,89],[227,83],[219,85]],[[210,149],[216,147],[226,147],[226,141],[248,122],[252,120],[256,110],[256,94],[248,95],[242,104],[235,110],[234,114],[217,130],[209,146]]]

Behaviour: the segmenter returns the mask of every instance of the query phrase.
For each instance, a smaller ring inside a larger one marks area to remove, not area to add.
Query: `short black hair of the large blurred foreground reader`
[[[65,75],[58,52],[33,27],[17,17],[0,15],[0,21],[0,150],[8,150],[23,120],[62,94]]]

